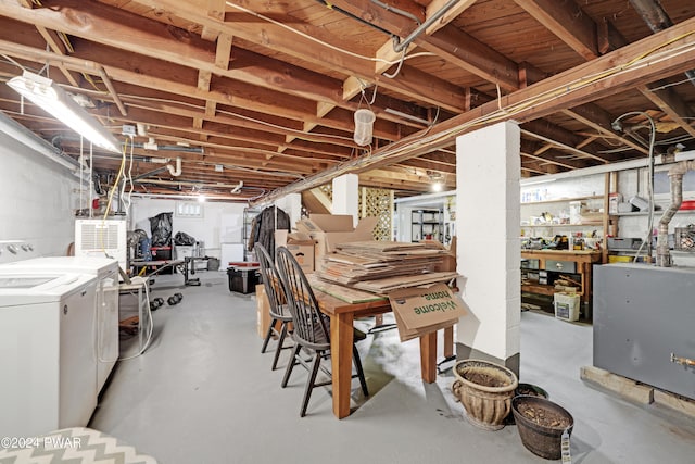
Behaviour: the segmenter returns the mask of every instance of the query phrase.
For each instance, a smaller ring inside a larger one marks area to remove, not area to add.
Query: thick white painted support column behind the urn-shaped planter
[[[457,356],[482,358],[519,372],[520,131],[495,124],[456,140],[458,286],[469,314],[457,330]]]

